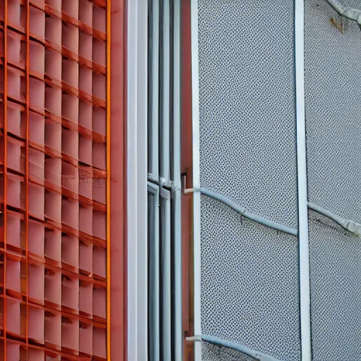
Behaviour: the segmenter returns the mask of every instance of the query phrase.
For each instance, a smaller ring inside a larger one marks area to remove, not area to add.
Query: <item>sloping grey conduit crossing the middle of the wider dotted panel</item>
[[[255,221],[259,224],[263,224],[264,226],[274,228],[277,231],[282,231],[285,233],[289,233],[291,235],[298,235],[297,229],[291,228],[288,226],[283,226],[283,224],[278,224],[274,221],[270,221],[267,218],[258,216],[257,214],[253,214],[253,213],[247,211],[247,209],[245,209],[244,207],[233,202],[233,200],[228,199],[224,195],[220,195],[219,193],[213,192],[212,190],[208,190],[207,188],[204,188],[204,187],[201,187],[199,190],[194,189],[194,188],[185,190],[185,193],[191,193],[191,192],[201,192],[202,195],[207,195],[207,197],[213,198],[214,200],[218,200],[219,202],[226,204],[228,207],[231,207],[233,210],[235,210],[235,212],[238,212],[245,218],[250,219],[251,221]]]

